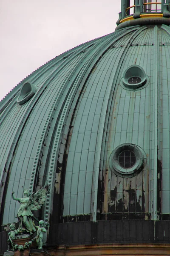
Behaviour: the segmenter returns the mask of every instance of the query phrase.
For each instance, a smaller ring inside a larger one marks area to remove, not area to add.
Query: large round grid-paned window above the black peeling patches
[[[111,170],[121,177],[133,177],[142,171],[146,164],[144,150],[134,144],[122,144],[110,156]]]

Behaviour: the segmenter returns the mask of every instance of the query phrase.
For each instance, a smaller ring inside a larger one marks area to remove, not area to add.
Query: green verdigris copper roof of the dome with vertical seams
[[[133,65],[147,76],[137,90],[122,84]],[[170,27],[133,26],[59,55],[17,85],[0,102],[3,224],[16,221],[11,192],[20,198],[22,186],[32,192],[46,180],[45,221],[54,208],[62,218],[92,220],[97,213],[170,212],[169,76]],[[124,144],[144,151],[138,175],[112,171],[112,152]]]

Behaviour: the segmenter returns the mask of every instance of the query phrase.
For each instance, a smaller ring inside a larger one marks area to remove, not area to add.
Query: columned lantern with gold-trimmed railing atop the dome
[[[145,20],[140,20],[140,18],[144,18]],[[152,18],[152,20],[147,20],[148,18]],[[161,18],[165,18],[160,20]],[[119,20],[117,21],[117,25],[120,23],[124,23],[125,21],[135,20],[131,23],[133,25],[142,25],[147,22],[151,22],[153,24],[167,24],[169,25],[170,18],[170,0],[122,0],[121,1],[121,12],[119,13]],[[168,19],[168,20],[167,20]],[[132,24],[126,26],[131,26]],[[125,27],[125,25],[121,26]],[[119,26],[120,28],[120,26]]]

